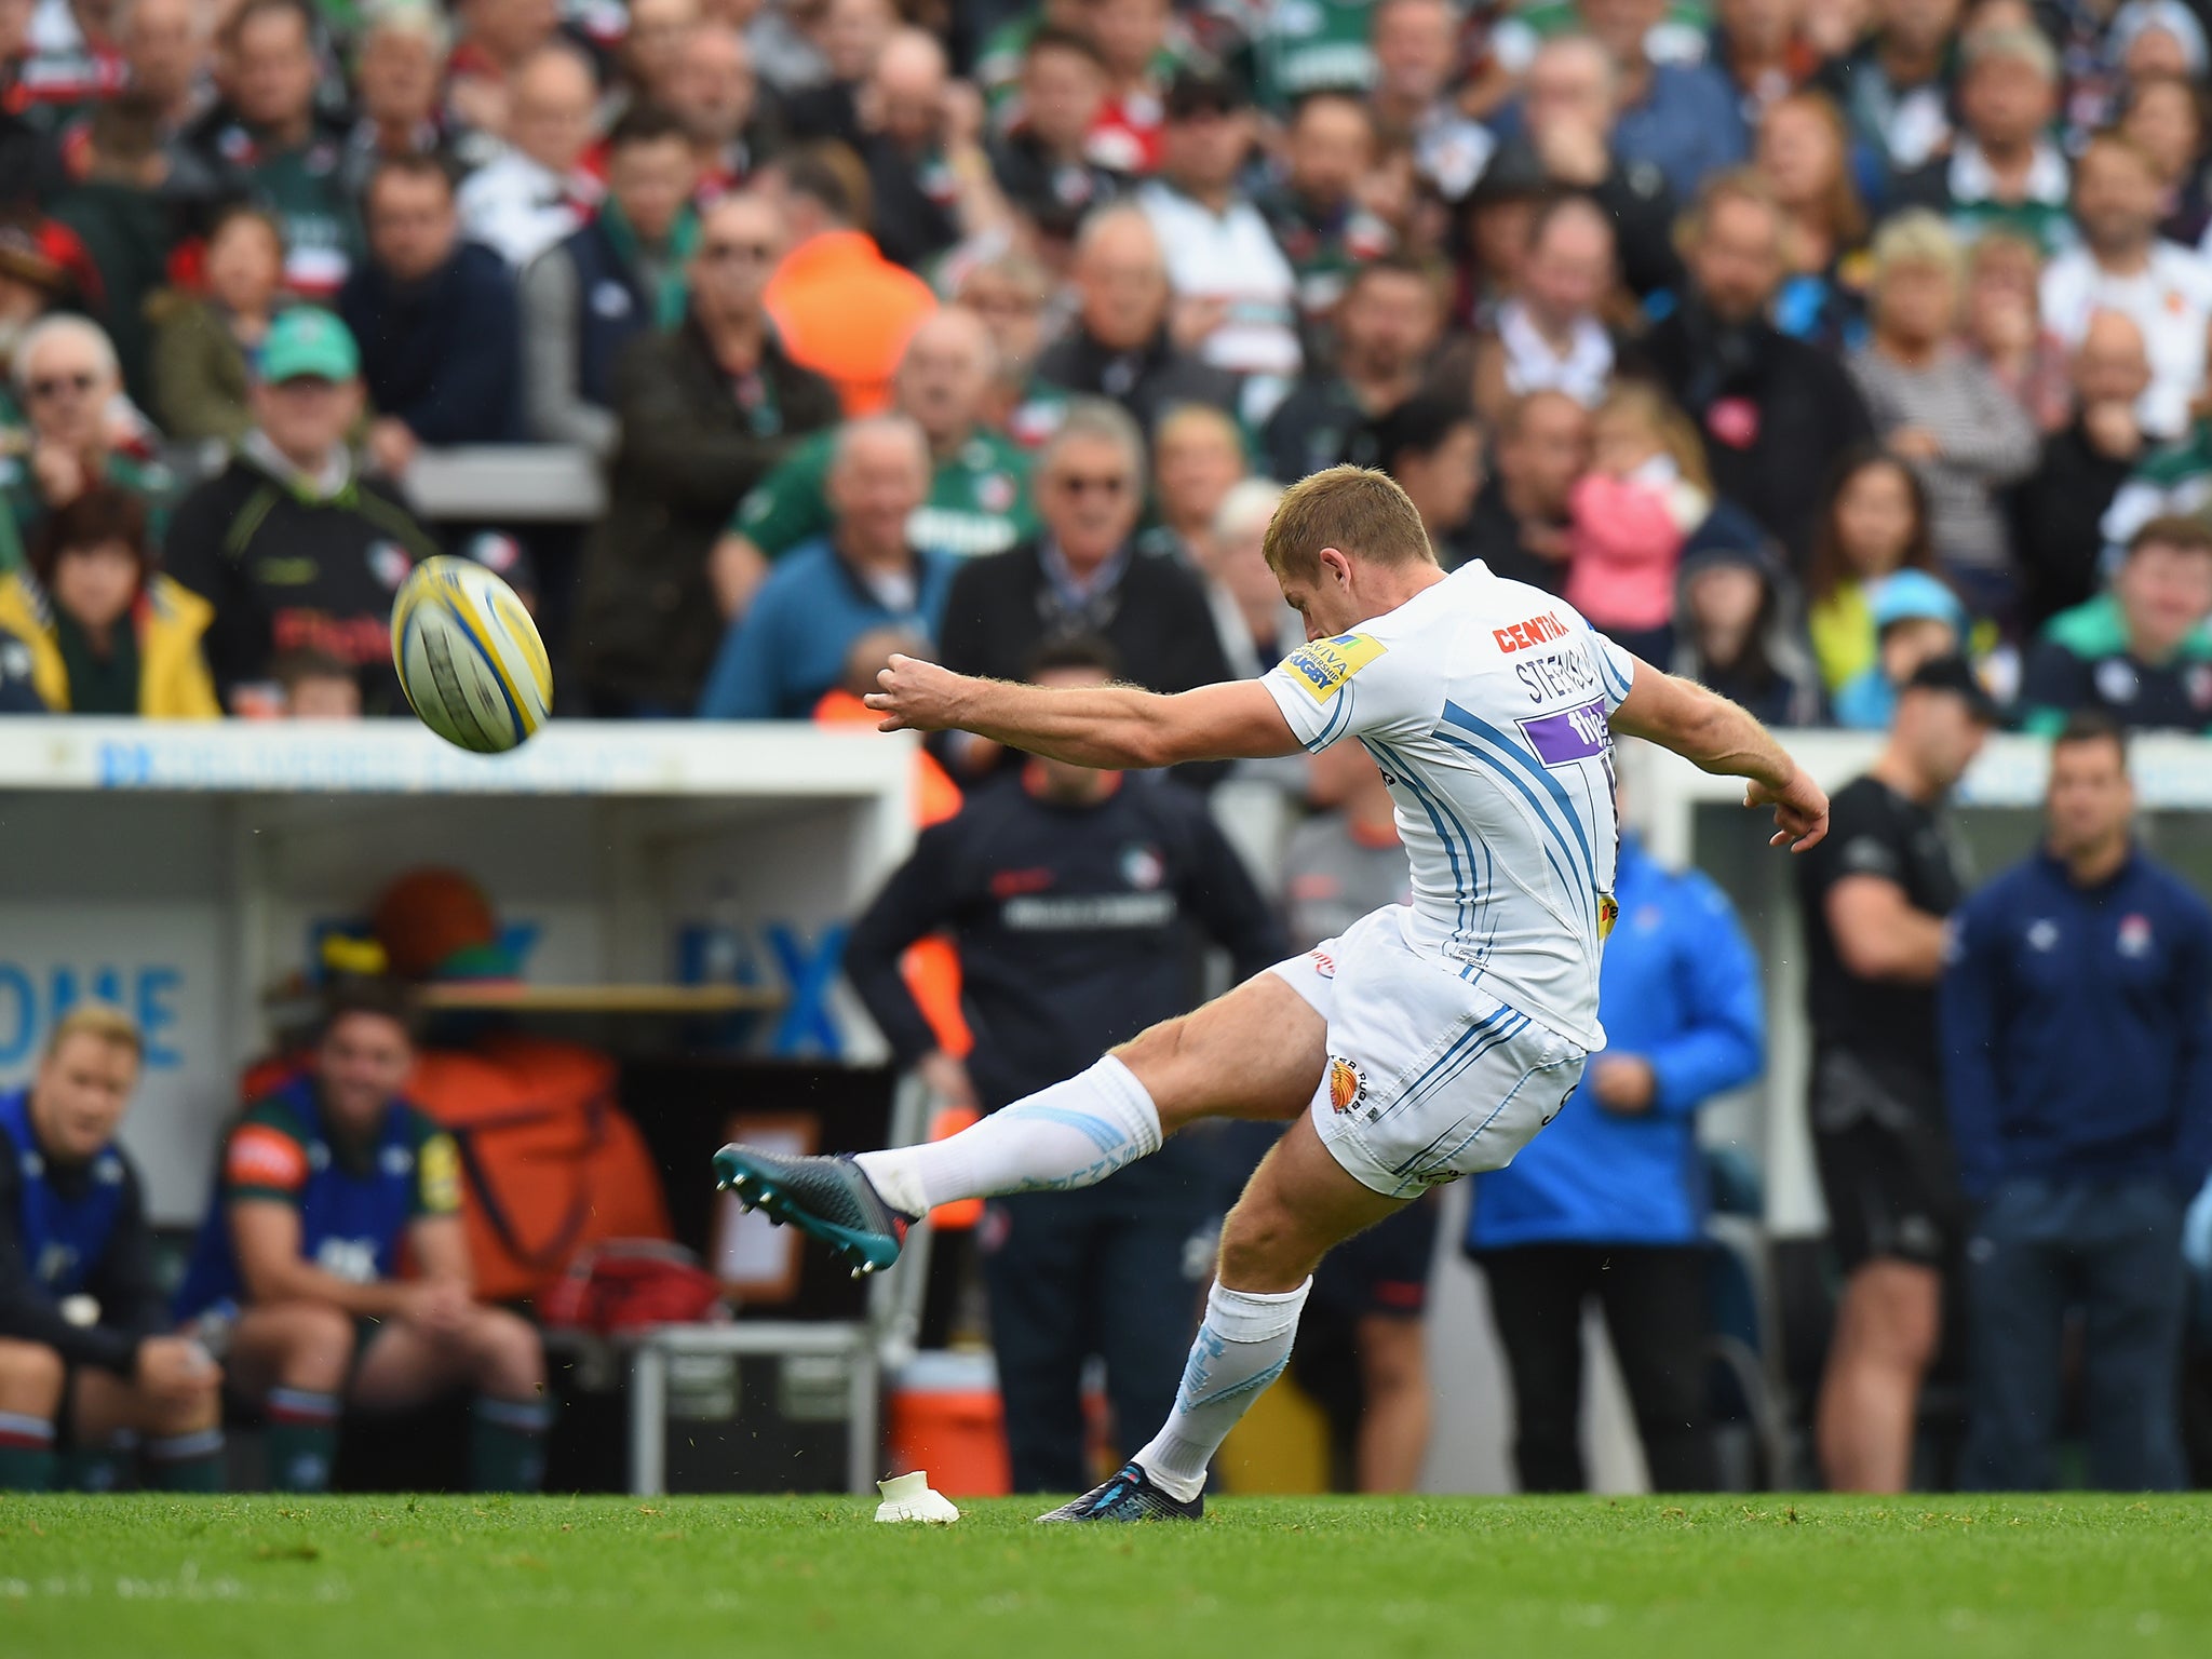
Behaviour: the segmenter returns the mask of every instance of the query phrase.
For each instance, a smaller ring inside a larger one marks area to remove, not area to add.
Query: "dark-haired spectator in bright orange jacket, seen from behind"
[[[920,276],[883,257],[858,226],[867,179],[838,166],[838,148],[779,161],[790,252],[768,283],[768,314],[792,363],[838,389],[847,416],[880,414],[914,325],[938,299]]]

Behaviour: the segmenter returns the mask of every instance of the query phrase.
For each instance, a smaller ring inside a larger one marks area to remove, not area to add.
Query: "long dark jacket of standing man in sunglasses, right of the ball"
[[[836,389],[774,338],[759,372],[732,385],[686,319],[628,343],[615,414],[622,445],[606,518],[584,549],[575,653],[599,712],[688,714],[723,635],[708,551],[794,438],[836,425]]]

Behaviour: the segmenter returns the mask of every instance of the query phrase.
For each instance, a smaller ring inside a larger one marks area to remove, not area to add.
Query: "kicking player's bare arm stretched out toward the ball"
[[[1161,692],[1135,686],[1018,686],[891,657],[867,706],[885,732],[975,732],[1053,761],[1113,770],[1296,754],[1298,739],[1256,679]]]

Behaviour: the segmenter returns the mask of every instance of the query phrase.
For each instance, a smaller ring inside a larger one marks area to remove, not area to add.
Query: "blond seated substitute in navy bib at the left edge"
[[[115,1144],[139,1073],[126,1013],[60,1018],[0,1095],[0,1491],[53,1484],[55,1440],[137,1442],[148,1486],[219,1491],[221,1367],[168,1336],[137,1170]]]

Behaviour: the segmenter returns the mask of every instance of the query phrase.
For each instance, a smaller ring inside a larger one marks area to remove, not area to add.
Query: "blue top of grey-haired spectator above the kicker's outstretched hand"
[[[801,542],[761,584],[745,619],[721,637],[699,719],[803,721],[832,686],[845,684],[845,653],[878,628],[916,628],[931,639],[945,617],[956,560],[916,551],[918,597],[891,611],[836,555],[827,538]]]

